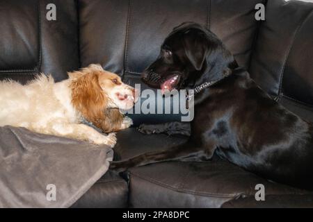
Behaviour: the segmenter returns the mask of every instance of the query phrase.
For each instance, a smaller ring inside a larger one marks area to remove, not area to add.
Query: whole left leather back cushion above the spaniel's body
[[[49,21],[49,3],[56,21]],[[77,4],[74,0],[0,1],[0,80],[26,83],[38,73],[67,78],[79,67]]]

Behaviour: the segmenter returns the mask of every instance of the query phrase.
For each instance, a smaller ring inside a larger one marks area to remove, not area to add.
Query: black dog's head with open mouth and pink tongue
[[[193,88],[216,80],[236,62],[223,43],[199,24],[183,23],[161,45],[159,58],[142,74],[144,83],[162,92]]]

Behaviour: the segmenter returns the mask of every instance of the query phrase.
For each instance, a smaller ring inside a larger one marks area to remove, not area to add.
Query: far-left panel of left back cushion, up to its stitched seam
[[[0,1],[0,67],[8,70],[34,70],[40,60],[39,11],[36,0],[24,6],[19,1]]]

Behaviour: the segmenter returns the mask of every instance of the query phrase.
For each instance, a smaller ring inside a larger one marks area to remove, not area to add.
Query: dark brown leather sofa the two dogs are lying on
[[[56,20],[46,17],[56,5]],[[266,20],[255,19],[263,3]],[[216,33],[241,67],[275,101],[313,121],[313,3],[284,0],[0,0],[0,79],[26,83],[40,72],[99,63],[130,85],[159,53],[173,27],[198,22]],[[146,86],[143,85],[143,88]],[[1,92],[0,92],[1,93]],[[134,114],[135,127],[118,133],[115,159],[186,140],[142,135],[143,122],[177,115]],[[265,187],[257,201],[255,185]],[[313,207],[312,191],[276,184],[214,157],[209,162],[163,162],[108,171],[72,207]]]

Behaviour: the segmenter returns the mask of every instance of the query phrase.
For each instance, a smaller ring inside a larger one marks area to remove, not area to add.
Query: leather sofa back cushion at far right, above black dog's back
[[[313,3],[268,1],[250,75],[266,92],[313,121]]]

